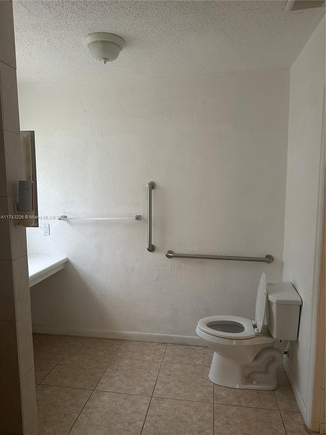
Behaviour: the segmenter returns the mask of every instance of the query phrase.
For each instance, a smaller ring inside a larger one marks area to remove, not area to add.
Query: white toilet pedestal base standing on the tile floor
[[[208,377],[223,387],[274,390],[277,387],[276,368],[270,368],[267,372],[264,368],[238,364],[236,359],[214,352]],[[250,376],[257,372],[260,372],[260,375],[251,379]]]

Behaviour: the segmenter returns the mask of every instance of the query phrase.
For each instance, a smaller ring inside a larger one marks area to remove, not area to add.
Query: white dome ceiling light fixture
[[[124,39],[113,33],[90,33],[84,38],[84,43],[93,58],[104,64],[117,59],[125,46]]]

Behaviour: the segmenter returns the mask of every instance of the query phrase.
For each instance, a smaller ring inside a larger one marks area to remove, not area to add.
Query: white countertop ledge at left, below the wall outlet
[[[68,259],[60,255],[28,254],[30,287],[59,272]]]

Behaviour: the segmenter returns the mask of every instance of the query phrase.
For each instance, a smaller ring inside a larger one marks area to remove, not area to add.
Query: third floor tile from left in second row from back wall
[[[161,363],[114,358],[96,390],[151,396]]]

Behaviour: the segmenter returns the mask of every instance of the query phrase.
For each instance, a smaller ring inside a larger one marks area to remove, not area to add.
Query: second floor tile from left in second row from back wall
[[[110,361],[105,356],[66,354],[41,383],[93,390]]]

